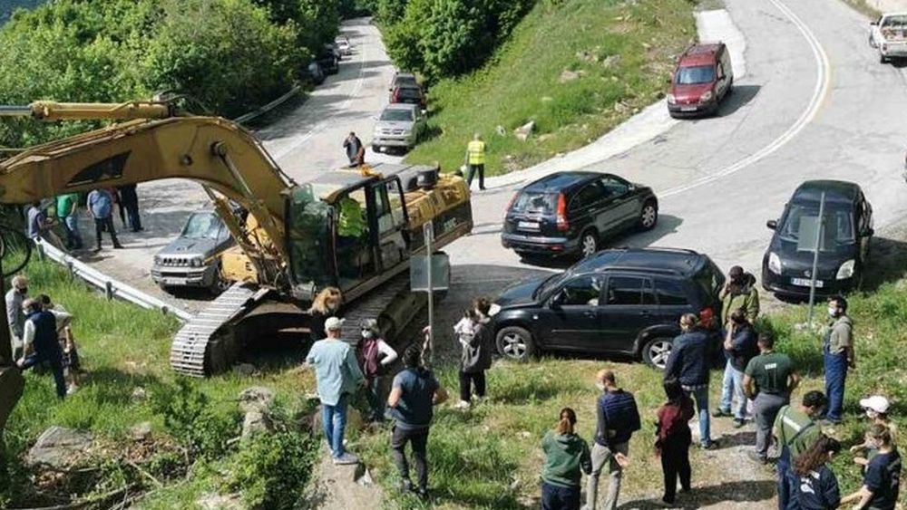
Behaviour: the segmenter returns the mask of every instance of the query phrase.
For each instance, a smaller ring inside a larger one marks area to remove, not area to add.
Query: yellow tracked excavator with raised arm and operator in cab
[[[226,370],[256,338],[304,330],[309,304],[327,286],[342,291],[351,330],[357,318],[378,318],[399,333],[424,302],[409,292],[406,274],[411,257],[425,255],[424,224],[434,228],[433,251],[473,227],[460,176],[375,164],[297,184],[248,130],[178,111],[171,101],[38,101],[0,106],[0,116],[115,121],[0,161],[0,203],[161,178],[187,178],[209,194],[237,240],[220,261],[236,283],[173,340],[171,366],[187,375]],[[245,221],[234,203],[248,211]],[[346,333],[356,338],[357,330]]]

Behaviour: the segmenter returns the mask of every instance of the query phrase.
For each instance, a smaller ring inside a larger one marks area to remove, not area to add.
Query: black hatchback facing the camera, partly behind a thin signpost
[[[815,292],[835,295],[858,287],[873,237],[873,207],[853,182],[809,180],[796,188],[762,261],[762,286],[777,294],[808,296],[812,281],[819,203],[824,226],[819,242]]]

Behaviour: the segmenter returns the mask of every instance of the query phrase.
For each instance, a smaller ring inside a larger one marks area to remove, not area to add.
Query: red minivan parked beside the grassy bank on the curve
[[[725,43],[698,43],[680,55],[671,74],[668,112],[671,117],[713,114],[731,91],[734,70]]]

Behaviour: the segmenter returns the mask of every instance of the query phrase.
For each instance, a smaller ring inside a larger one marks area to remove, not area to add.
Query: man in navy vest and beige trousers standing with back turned
[[[629,455],[629,438],[640,428],[639,409],[636,399],[629,391],[618,388],[612,370],[600,370],[595,376],[595,385],[601,390],[596,405],[595,440],[592,444],[592,472],[589,486],[586,487],[586,505],[588,510],[597,508],[599,499],[599,476],[608,467],[608,496],[605,498],[605,510],[614,510],[618,506],[620,482],[623,467]]]

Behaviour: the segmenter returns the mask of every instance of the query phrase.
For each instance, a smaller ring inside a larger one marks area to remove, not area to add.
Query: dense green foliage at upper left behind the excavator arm
[[[336,34],[340,0],[59,0],[0,29],[0,103],[180,91],[231,117],[287,91]],[[93,124],[0,123],[20,147]]]

